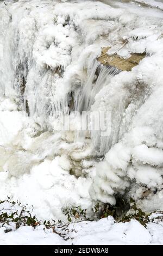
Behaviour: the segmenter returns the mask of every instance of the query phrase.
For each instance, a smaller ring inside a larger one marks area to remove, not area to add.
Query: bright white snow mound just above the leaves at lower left
[[[61,209],[69,205],[81,205],[82,209],[86,208],[89,213],[92,205],[89,196],[91,180],[82,177],[77,179],[70,175],[59,166],[59,161],[59,156],[53,161],[45,160],[34,166],[30,173],[26,170],[26,173],[17,179],[14,177],[16,173],[11,173],[14,175],[11,179],[8,178],[9,174],[6,174],[4,180],[1,178],[3,184],[0,190],[4,195],[1,198],[14,194],[14,200],[34,205],[35,214],[42,219],[64,219]],[[23,163],[21,172],[27,167]]]

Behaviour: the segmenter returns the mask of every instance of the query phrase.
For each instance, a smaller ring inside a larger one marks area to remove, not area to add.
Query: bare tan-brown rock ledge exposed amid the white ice
[[[98,57],[98,61],[104,65],[115,66],[117,69],[122,71],[131,71],[134,66],[137,66],[143,58],[145,58],[145,53],[131,53],[131,57],[128,59],[120,58],[117,54],[109,56],[107,54],[111,47],[102,48],[101,56]]]

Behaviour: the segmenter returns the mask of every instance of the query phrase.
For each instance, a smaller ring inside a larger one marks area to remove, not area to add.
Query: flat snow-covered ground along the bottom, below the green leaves
[[[115,223],[111,216],[70,224],[66,241],[52,230],[43,230],[42,225],[8,233],[4,229],[0,228],[0,245],[163,245],[163,223],[149,223],[146,229],[136,220]]]

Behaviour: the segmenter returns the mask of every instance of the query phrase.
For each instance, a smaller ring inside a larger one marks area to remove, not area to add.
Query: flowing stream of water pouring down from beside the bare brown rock
[[[82,85],[80,94],[77,97],[76,100],[76,111],[78,113],[89,113],[89,122],[88,125],[90,125],[90,122],[92,123],[91,118],[91,107],[93,103],[95,102],[95,96],[99,93],[99,91],[104,88],[105,86],[108,86],[110,83],[110,80],[115,75],[119,74],[120,70],[118,70],[114,66],[105,66],[99,63],[97,60],[95,60],[95,63],[92,66],[92,69],[90,71],[90,75],[86,81],[85,84]],[[96,111],[98,112],[98,111]],[[98,156],[104,156],[105,153],[108,152],[109,148],[111,147],[111,139],[109,131],[107,130],[107,125],[109,125],[109,122],[111,121],[106,113],[104,111],[103,113],[93,113],[96,116],[93,116],[95,119],[95,122],[97,123],[97,130],[93,129],[90,131],[91,133],[91,139],[93,148],[96,151]],[[110,114],[110,113],[109,113]],[[101,136],[101,127],[100,127],[100,121],[101,119],[104,119],[104,126],[105,126],[105,136]],[[108,120],[109,119],[109,120]],[[96,126],[96,124],[95,124]],[[89,129],[89,127],[87,127]],[[78,132],[77,139],[81,139],[81,137],[84,137],[85,132]],[[80,138],[79,138],[80,137]]]

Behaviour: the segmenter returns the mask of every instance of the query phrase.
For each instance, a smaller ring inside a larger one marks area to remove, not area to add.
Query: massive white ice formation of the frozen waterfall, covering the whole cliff
[[[119,194],[147,211],[163,210],[161,3],[6,2],[0,2],[1,199],[33,204],[42,218],[60,218],[68,204],[91,214],[96,200],[115,204]],[[97,63],[102,47],[114,53],[124,40],[117,54],[145,52],[139,65],[119,72]],[[110,135],[79,136],[73,116],[70,130],[61,131],[58,113],[73,110],[110,112]]]

